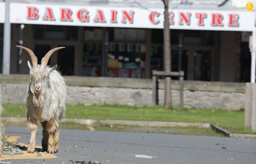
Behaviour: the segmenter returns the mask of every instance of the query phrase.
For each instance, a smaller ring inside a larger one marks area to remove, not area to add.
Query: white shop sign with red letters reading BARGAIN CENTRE
[[[173,10],[171,29],[252,31],[252,11]],[[11,23],[91,27],[163,28],[163,10],[11,3]]]

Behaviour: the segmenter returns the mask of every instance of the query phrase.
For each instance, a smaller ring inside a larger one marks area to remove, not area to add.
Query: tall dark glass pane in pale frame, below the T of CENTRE
[[[211,51],[194,52],[194,80],[210,81]]]

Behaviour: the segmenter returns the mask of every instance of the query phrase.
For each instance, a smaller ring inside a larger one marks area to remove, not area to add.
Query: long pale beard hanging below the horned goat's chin
[[[37,92],[34,86],[30,86],[30,91],[33,94],[33,105],[37,107],[42,107],[44,104],[44,97],[46,93],[47,87],[45,85],[42,86],[41,90]]]

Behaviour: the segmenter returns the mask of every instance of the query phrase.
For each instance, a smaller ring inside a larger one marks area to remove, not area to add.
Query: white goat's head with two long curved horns
[[[65,47],[57,47],[50,50],[41,60],[41,65],[37,64],[37,57],[31,49],[28,49],[23,46],[16,46],[22,48],[28,52],[31,57],[32,65],[28,61],[28,67],[30,68],[31,84],[30,90],[32,93],[40,93],[41,90],[46,90],[48,88],[48,80],[50,72],[54,71],[57,68],[57,65],[53,67],[47,66],[50,56],[57,51]],[[42,89],[43,88],[43,89]]]

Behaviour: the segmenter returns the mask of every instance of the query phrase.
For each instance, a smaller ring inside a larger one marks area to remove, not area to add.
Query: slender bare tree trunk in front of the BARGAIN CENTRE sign
[[[171,71],[171,42],[170,42],[170,24],[168,18],[169,0],[162,0],[164,2],[164,71]],[[165,77],[165,100],[164,108],[167,109],[172,106],[171,100],[171,77]]]

